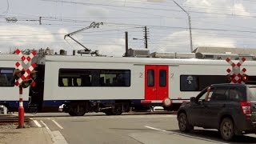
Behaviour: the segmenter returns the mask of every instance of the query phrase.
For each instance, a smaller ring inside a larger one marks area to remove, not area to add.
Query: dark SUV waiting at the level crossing
[[[226,141],[236,134],[256,133],[256,86],[208,86],[180,106],[177,118],[182,132],[193,130],[194,126],[218,129]]]

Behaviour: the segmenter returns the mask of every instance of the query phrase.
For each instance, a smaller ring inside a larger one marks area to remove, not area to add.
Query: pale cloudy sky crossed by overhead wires
[[[175,2],[190,14],[193,49],[198,46],[256,48],[256,1]],[[129,48],[145,49],[145,26],[150,53],[190,52],[188,16],[173,0],[2,0],[0,51],[49,47],[72,54],[72,50],[83,48],[64,36],[92,22],[103,25],[82,30],[72,37],[90,50],[99,50],[100,54],[122,56],[126,31]]]

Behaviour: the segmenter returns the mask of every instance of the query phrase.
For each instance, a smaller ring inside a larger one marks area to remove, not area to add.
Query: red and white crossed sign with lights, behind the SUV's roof
[[[227,69],[226,72],[230,74],[232,77],[232,80],[230,83],[244,83],[242,82],[242,75],[246,72],[246,68],[243,68],[240,70],[240,66],[242,66],[242,63],[246,61],[246,58],[242,58],[237,64],[231,61],[230,58],[226,58],[226,62],[232,66],[232,70]]]

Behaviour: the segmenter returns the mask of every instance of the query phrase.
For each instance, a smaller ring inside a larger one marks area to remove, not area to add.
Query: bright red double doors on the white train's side
[[[168,66],[145,66],[145,100],[162,102],[168,98]]]

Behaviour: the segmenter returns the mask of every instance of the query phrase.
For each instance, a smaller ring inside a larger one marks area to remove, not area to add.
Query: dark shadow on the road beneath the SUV
[[[232,142],[226,142],[222,140],[221,134],[218,130],[192,130],[189,133],[182,133],[179,130],[168,130],[176,134],[182,135],[184,137],[198,138],[203,140],[213,140],[217,142],[225,143],[256,143],[256,138],[250,137],[248,135],[235,136]]]

